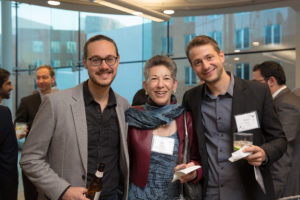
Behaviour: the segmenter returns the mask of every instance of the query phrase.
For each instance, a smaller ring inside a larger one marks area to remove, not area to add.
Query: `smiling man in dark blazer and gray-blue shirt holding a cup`
[[[186,48],[189,62],[204,84],[185,92],[192,112],[203,166],[203,197],[209,200],[274,200],[269,167],[286,150],[286,138],[266,85],[242,80],[224,69],[217,42],[202,35]],[[253,133],[251,155],[229,162],[233,133]]]

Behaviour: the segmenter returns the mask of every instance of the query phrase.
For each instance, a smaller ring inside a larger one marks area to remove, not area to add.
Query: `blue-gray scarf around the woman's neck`
[[[151,104],[151,105],[150,105]],[[177,104],[175,96],[172,95],[171,104],[157,106],[151,103],[151,99],[143,105],[144,110],[129,108],[125,112],[125,118],[129,126],[143,129],[153,129],[160,125],[170,124],[178,117],[184,108]]]

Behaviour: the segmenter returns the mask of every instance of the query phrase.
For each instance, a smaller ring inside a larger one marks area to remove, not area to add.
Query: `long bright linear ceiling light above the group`
[[[169,15],[157,12],[155,10],[146,9],[125,1],[120,0],[90,0],[91,2],[98,3],[122,12],[126,12],[132,15],[145,17],[156,22],[168,21]]]

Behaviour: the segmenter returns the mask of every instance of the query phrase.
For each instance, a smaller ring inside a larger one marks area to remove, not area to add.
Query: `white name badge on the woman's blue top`
[[[153,135],[151,151],[167,155],[173,155],[174,145],[174,138]]]

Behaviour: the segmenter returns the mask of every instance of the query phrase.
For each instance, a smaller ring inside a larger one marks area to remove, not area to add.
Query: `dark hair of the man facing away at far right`
[[[286,83],[286,77],[283,67],[275,61],[265,61],[253,67],[253,71],[259,70],[261,75],[267,81],[271,76],[275,77],[278,85]]]

